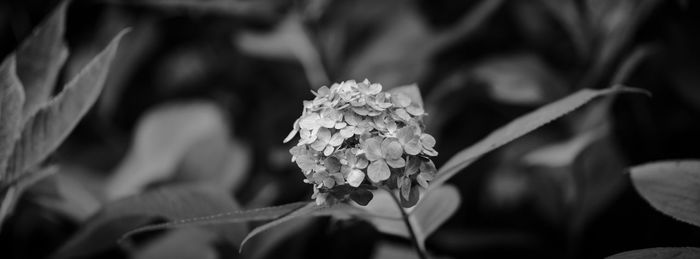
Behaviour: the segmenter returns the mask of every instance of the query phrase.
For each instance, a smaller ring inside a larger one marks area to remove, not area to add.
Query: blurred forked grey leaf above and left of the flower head
[[[272,31],[244,31],[234,39],[234,43],[249,54],[298,60],[313,88],[330,82],[321,55],[309,38],[301,17],[295,12],[290,12]]]

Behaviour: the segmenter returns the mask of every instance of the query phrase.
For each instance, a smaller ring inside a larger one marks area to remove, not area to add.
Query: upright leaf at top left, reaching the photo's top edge
[[[17,76],[26,94],[24,119],[30,118],[51,98],[58,74],[68,58],[63,34],[69,3],[69,0],[61,1],[17,49]]]

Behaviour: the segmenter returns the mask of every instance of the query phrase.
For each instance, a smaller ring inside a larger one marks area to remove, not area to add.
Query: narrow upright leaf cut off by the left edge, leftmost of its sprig
[[[16,73],[15,56],[10,55],[0,65],[0,183],[6,181],[7,159],[22,120],[24,90]]]

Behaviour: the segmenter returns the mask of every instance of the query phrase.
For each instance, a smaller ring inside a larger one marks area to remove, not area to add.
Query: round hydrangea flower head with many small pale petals
[[[354,194],[386,186],[399,189],[406,206],[415,204],[416,185],[427,188],[436,173],[430,157],[437,155],[435,139],[423,132],[420,100],[382,92],[380,84],[366,79],[323,86],[313,94],[284,142],[298,133],[292,162],[306,176],[304,182],[314,185],[316,203],[350,198],[366,204],[371,196]]]

